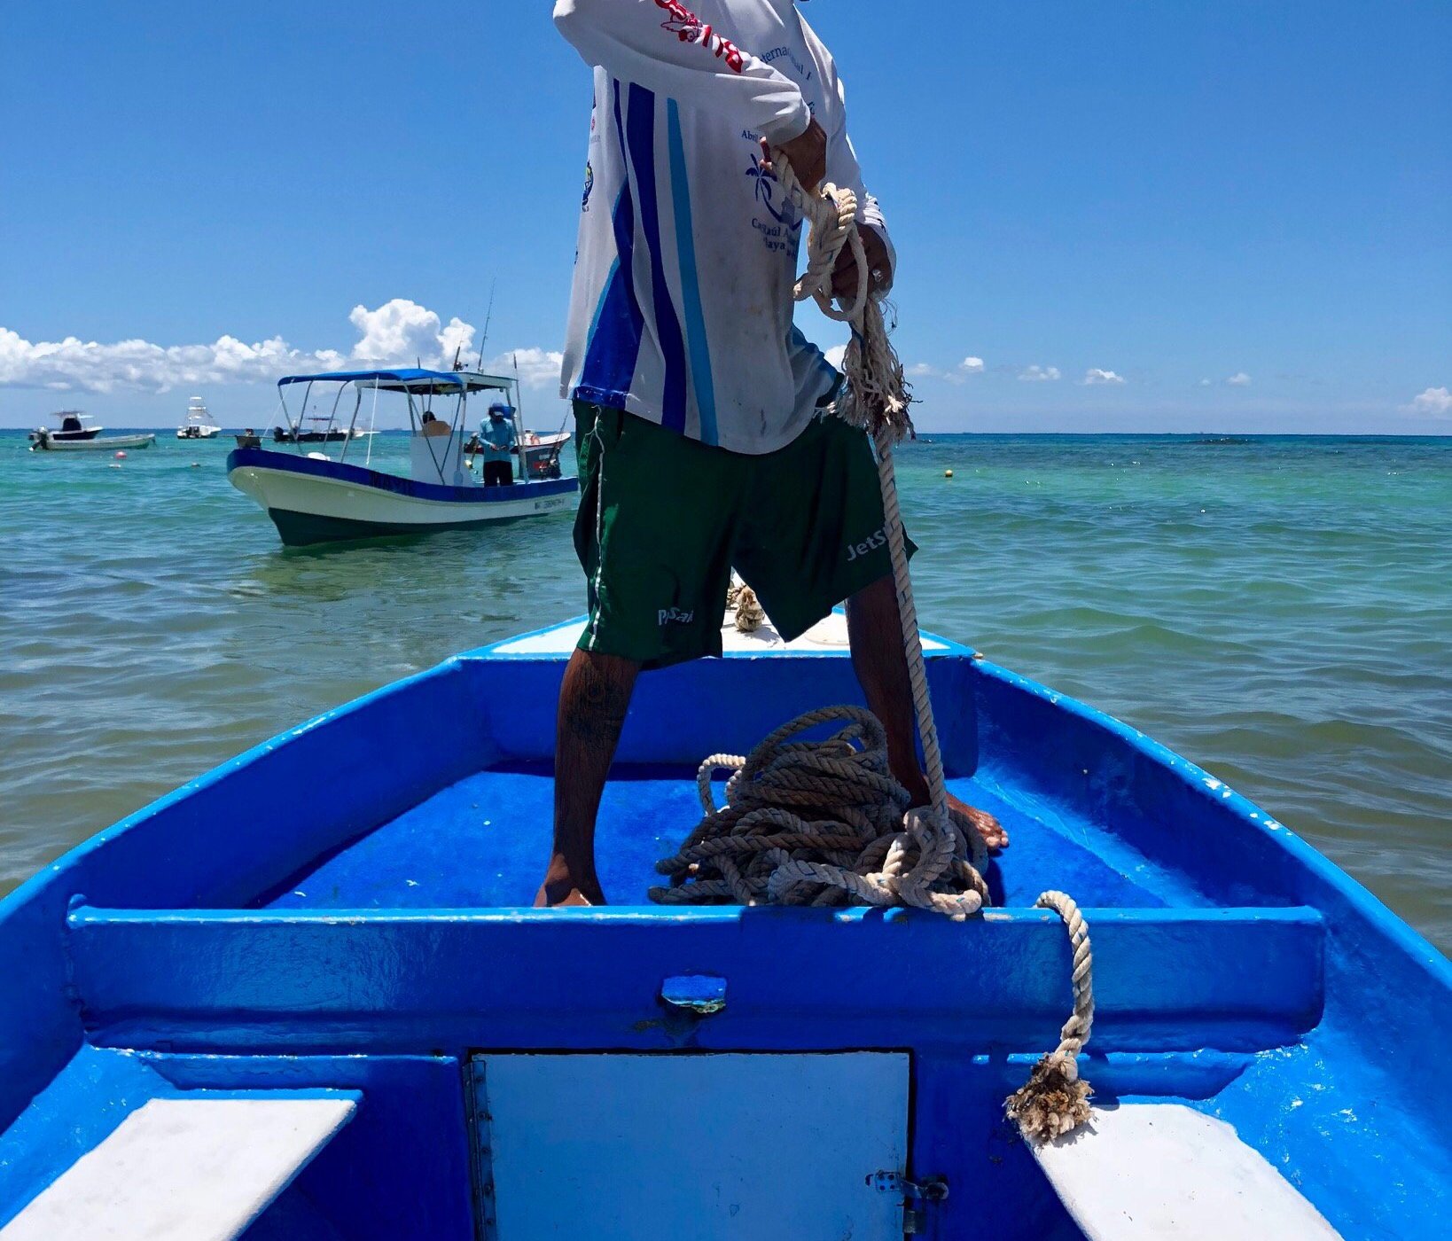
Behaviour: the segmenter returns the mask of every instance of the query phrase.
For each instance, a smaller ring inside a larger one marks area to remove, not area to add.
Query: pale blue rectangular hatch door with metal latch
[[[486,1241],[903,1235],[873,1176],[905,1167],[905,1052],[484,1054],[469,1077]]]

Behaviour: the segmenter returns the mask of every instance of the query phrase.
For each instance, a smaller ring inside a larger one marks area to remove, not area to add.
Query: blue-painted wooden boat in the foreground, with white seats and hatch
[[[415,379],[399,379],[414,383]],[[463,380],[459,380],[463,382]],[[995,907],[661,907],[697,763],[860,701],[841,621],[642,678],[619,904],[529,909],[579,631],[460,655],[0,903],[0,1237],[1432,1238],[1448,961],[1218,779],[926,639]],[[1077,1132],[1003,1099],[1098,1010]]]

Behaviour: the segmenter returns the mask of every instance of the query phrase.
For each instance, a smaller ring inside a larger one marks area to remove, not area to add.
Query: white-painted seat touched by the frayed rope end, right
[[[1031,1142],[1089,1241],[1329,1241],[1339,1234],[1233,1126],[1182,1103],[1095,1107]]]

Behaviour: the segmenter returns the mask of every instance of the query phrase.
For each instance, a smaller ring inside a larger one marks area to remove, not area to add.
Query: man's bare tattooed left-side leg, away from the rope
[[[640,665],[576,650],[565,666],[555,726],[555,846],[537,906],[604,904],[595,875],[595,816]]]

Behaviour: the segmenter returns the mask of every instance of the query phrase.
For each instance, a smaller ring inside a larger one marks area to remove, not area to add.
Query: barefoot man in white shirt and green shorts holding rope
[[[893,774],[926,804],[912,692],[864,431],[831,417],[841,376],[793,325],[799,180],[857,193],[874,287],[893,248],[847,135],[836,65],[794,0],[558,0],[594,67],[562,395],[584,493],[590,623],[560,687],[555,845],[539,904],[604,900],[595,816],[636,675],[720,655],[735,566],[784,639],[847,599]],[[839,292],[857,287],[844,250]],[[957,803],[986,839],[1002,832]]]

